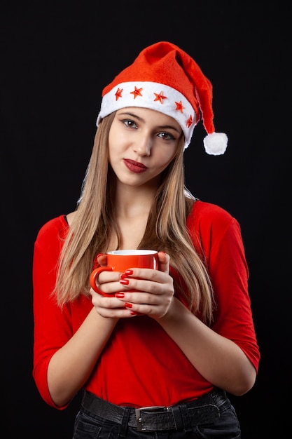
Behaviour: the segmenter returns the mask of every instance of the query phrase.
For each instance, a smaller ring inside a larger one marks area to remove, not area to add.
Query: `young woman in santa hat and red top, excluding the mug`
[[[225,151],[211,94],[178,46],[142,50],[104,88],[76,210],[36,238],[33,374],[58,410],[83,389],[75,439],[240,438],[227,393],[253,387],[260,359],[240,227],[183,175],[200,118],[207,153]],[[158,250],[158,270],[90,288],[107,251],[138,248]]]

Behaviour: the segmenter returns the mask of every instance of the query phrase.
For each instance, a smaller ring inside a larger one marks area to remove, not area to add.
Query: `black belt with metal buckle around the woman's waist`
[[[182,430],[209,424],[220,417],[220,412],[230,406],[225,391],[214,389],[190,403],[169,407],[121,407],[84,392],[82,407],[116,424],[137,428],[139,431]]]

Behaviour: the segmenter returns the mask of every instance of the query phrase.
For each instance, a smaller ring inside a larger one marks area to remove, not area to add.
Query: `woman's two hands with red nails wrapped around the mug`
[[[106,255],[100,255],[98,262],[105,265]],[[91,289],[92,304],[97,313],[109,318],[129,318],[141,314],[155,319],[165,316],[174,296],[173,279],[169,276],[169,255],[158,252],[158,262],[158,270],[134,268],[125,273],[100,273],[97,286],[114,296],[104,297]]]

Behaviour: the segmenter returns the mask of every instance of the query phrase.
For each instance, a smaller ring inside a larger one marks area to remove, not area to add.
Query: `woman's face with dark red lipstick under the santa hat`
[[[170,116],[140,107],[119,109],[109,130],[109,163],[118,181],[157,186],[181,135],[179,123]]]

